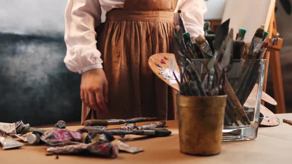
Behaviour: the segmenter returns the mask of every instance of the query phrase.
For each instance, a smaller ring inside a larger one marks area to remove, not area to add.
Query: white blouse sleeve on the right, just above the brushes
[[[204,35],[204,14],[207,11],[204,0],[178,0],[175,13],[178,9],[182,10],[185,25],[191,37]],[[175,25],[177,28],[177,18],[175,18]]]

